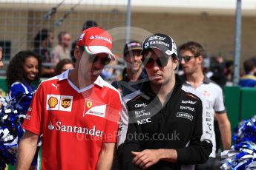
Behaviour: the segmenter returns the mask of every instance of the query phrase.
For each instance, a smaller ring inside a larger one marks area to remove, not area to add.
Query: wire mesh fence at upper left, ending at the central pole
[[[105,30],[126,24],[127,0],[0,0],[0,46],[4,62],[20,50],[33,50],[34,38],[40,30],[53,33],[52,50],[57,35],[67,31],[75,41],[85,21],[93,20]],[[114,44],[114,52],[122,52],[125,39]]]

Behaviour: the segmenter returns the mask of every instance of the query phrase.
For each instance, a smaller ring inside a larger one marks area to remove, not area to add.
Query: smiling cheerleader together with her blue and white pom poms
[[[6,98],[1,98],[0,169],[4,169],[5,164],[16,163],[18,143],[24,133],[22,123],[36,91],[32,83],[39,81],[40,67],[39,55],[21,51],[14,56],[7,68],[7,86],[10,92]],[[36,166],[36,159],[33,166]]]

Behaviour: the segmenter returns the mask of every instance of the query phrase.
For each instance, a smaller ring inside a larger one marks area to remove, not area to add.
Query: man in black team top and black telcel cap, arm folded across
[[[211,153],[206,111],[175,75],[173,39],[154,34],[143,42],[149,81],[123,98],[119,125],[119,169],[194,169]]]

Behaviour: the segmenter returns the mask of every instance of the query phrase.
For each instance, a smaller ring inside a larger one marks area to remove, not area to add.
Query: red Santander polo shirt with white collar
[[[96,169],[103,142],[116,142],[121,98],[98,77],[78,89],[68,71],[40,84],[23,128],[43,135],[42,169]]]

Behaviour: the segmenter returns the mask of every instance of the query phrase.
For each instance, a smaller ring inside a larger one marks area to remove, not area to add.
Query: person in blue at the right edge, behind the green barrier
[[[240,78],[239,86],[242,87],[256,87],[256,64],[253,58],[244,61],[243,63],[244,71],[246,72],[246,75],[243,75],[242,78]]]

